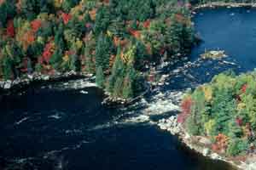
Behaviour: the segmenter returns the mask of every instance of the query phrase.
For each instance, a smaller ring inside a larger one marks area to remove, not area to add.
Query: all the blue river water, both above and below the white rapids
[[[205,48],[221,48],[230,54],[226,61],[237,65],[200,62],[171,77],[160,90],[193,87],[230,68],[252,70],[256,65],[255,16],[256,10],[246,9],[202,10],[195,15],[196,29],[205,42],[194,49],[192,60]],[[81,94],[81,89],[62,89],[61,84],[32,87],[1,100],[0,170],[231,169],[198,156],[161,131],[150,123],[150,116],[142,116],[143,105],[109,109],[101,105],[102,92],[97,88],[85,88],[88,94]]]

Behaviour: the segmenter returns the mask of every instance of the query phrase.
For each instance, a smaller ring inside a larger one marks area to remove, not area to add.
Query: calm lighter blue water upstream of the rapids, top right
[[[256,9],[203,9],[195,15],[195,29],[204,40],[192,52],[193,58],[205,49],[224,49],[246,71],[256,66]]]

